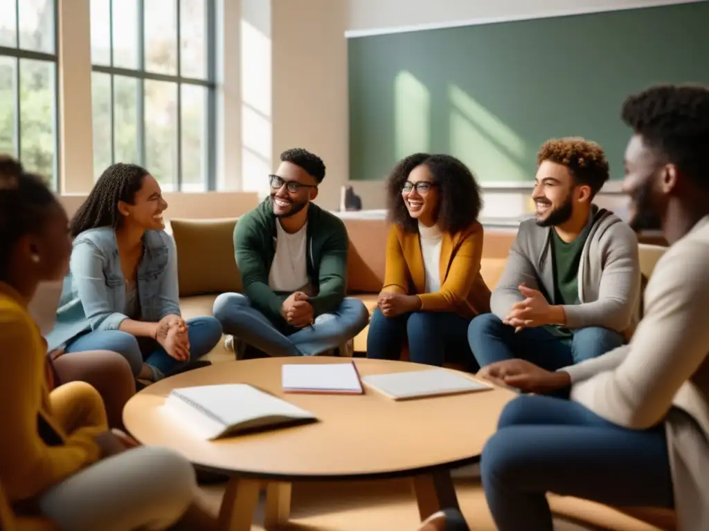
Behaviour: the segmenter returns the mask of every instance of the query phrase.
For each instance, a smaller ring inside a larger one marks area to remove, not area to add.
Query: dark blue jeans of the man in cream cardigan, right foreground
[[[518,396],[506,406],[480,473],[500,531],[552,531],[547,492],[611,506],[674,506],[663,424],[621,428],[552,396]]]

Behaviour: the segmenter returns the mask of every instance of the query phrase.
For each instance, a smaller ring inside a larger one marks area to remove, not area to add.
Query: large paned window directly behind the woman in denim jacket
[[[91,0],[95,178],[134,162],[164,190],[215,188],[214,9]]]

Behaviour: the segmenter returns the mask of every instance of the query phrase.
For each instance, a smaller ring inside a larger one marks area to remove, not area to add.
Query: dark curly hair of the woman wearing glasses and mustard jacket
[[[399,161],[386,183],[389,219],[408,232],[418,231],[418,222],[409,215],[401,197],[408,174],[421,164],[431,172],[438,185],[436,222],[441,230],[459,232],[469,227],[480,214],[483,200],[475,176],[461,161],[450,155],[416,153]]]

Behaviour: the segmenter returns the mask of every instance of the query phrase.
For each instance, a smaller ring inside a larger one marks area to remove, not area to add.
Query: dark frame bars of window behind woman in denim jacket
[[[20,0],[16,0],[20,1]],[[58,0],[55,0],[58,3]],[[167,81],[174,83],[177,86],[177,175],[173,181],[173,192],[182,192],[182,86],[201,86],[206,89],[206,182],[204,183],[205,191],[216,190],[217,187],[217,139],[216,139],[216,113],[217,113],[217,83],[216,83],[216,57],[217,57],[217,42],[216,42],[216,0],[203,0],[205,3],[206,14],[206,79],[197,79],[192,77],[182,76],[182,1],[174,0],[176,3],[177,13],[177,74],[159,74],[156,72],[148,72],[145,69],[145,0],[137,0],[136,8],[138,11],[138,67],[136,69],[114,67],[113,66],[113,3],[120,0],[108,0],[108,34],[110,40],[109,58],[111,66],[94,64],[94,59],[91,57],[91,72],[99,74],[109,74],[111,80],[111,164],[116,162],[116,101],[114,99],[115,76],[124,76],[138,81],[138,93],[136,99],[137,108],[137,123],[135,124],[137,135],[136,142],[138,144],[138,164],[145,167],[146,165],[146,143],[145,143],[145,81]],[[92,29],[92,28],[91,28]],[[93,87],[92,87],[93,90]],[[91,109],[93,115],[93,108]],[[93,120],[93,118],[91,118]],[[94,150],[95,152],[95,150]],[[98,178],[98,176],[94,176]]]

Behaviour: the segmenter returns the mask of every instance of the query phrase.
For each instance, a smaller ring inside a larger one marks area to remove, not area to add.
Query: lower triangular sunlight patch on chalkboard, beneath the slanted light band
[[[481,183],[527,180],[527,171],[505,149],[458,110],[450,111],[449,153],[464,162]]]

